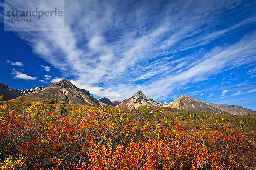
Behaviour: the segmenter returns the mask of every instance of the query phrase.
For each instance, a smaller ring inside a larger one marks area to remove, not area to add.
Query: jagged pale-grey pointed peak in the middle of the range
[[[125,99],[119,104],[120,107],[136,109],[139,107],[160,107],[160,105],[153,99],[149,99],[142,91],[138,91],[134,96],[129,99]]]

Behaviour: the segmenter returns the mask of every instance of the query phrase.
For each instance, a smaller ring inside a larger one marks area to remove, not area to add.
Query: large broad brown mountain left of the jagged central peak
[[[67,96],[66,100],[70,104],[100,106],[101,103],[99,100],[91,96],[89,91],[77,88],[66,79],[62,79],[61,81],[48,85],[46,88],[36,93],[20,96],[13,100],[24,99],[26,102],[36,101],[38,99],[50,100],[52,93],[54,93],[55,99],[58,101],[61,101],[63,94],[65,94]]]

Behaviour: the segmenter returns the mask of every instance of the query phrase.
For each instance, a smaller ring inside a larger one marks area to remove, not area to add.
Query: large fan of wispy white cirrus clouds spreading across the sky
[[[220,40],[256,22],[254,10],[241,13],[246,11],[244,1],[65,3],[64,33],[18,36],[63,73],[58,77],[96,96],[122,100],[143,90],[151,98],[169,99],[212,75],[256,60],[255,32],[232,42]],[[234,16],[223,16],[226,10],[235,11]]]

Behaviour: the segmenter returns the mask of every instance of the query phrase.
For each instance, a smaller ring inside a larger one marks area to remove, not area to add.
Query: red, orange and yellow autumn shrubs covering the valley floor
[[[0,170],[256,167],[254,116],[45,103],[1,103]]]

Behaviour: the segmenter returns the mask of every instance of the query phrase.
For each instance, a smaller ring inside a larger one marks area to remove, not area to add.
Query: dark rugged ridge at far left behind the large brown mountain
[[[19,96],[27,95],[27,94],[32,94],[37,91],[41,91],[45,87],[35,87],[31,89],[26,89],[26,90],[18,90],[15,88],[10,88],[8,85],[4,85],[3,83],[0,84],[0,96],[3,95],[4,100],[11,100]]]

